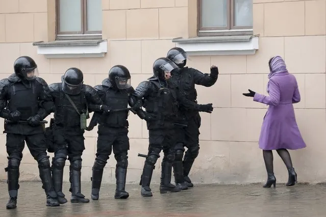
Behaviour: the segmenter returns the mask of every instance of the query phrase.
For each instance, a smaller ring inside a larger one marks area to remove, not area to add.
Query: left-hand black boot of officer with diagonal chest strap
[[[52,158],[52,180],[53,180],[53,186],[57,193],[57,198],[60,204],[67,203],[67,199],[65,198],[65,195],[62,192],[62,182],[63,182],[63,168],[65,165],[66,159],[59,158],[55,159]]]

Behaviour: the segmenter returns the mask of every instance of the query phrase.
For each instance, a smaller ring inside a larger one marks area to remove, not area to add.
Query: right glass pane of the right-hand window
[[[234,0],[234,25],[253,26],[253,0]]]

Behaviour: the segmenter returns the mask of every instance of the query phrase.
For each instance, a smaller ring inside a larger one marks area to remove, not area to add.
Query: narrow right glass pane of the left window
[[[102,30],[102,0],[87,0],[87,31]]]

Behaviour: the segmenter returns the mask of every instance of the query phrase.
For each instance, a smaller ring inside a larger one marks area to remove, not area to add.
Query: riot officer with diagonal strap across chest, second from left
[[[62,83],[49,85],[54,106],[52,127],[55,154],[52,161],[52,174],[55,191],[61,204],[66,203],[62,192],[63,168],[70,161],[71,203],[88,203],[81,193],[82,154],[85,150],[84,132],[89,112],[107,111],[96,91],[83,84],[83,72],[78,68],[69,68],[61,77]]]

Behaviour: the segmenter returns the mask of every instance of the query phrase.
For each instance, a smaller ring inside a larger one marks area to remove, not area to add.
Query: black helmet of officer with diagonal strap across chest
[[[66,94],[80,94],[83,86],[83,72],[78,68],[69,68],[61,77],[62,90]]]

